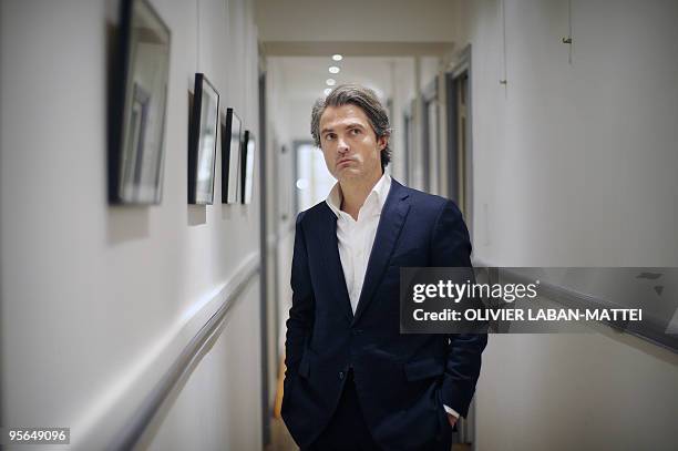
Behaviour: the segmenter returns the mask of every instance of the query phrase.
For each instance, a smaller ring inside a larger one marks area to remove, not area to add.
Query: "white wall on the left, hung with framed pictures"
[[[258,252],[257,188],[248,207],[186,205],[196,70],[258,131],[253,2],[152,3],[172,29],[164,194],[152,207],[106,203],[106,23],[117,1],[1,6],[3,423],[70,426],[81,447],[105,442],[131,397],[141,400],[186,344],[179,331]],[[229,443],[256,448],[258,295],[248,293],[234,322],[249,331],[229,331],[196,370],[225,394],[206,397],[195,388],[203,382],[189,382],[170,417],[187,418],[199,399],[226,422],[246,419]],[[245,391],[256,399],[237,394]],[[219,443],[220,424],[205,424],[206,442]]]

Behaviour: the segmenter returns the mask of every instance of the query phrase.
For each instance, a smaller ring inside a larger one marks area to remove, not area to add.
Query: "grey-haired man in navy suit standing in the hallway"
[[[470,267],[461,214],[384,174],[389,120],[371,90],[337,86],[311,133],[338,183],[297,218],[285,423],[302,450],[449,451],[487,338],[401,335],[399,276]]]

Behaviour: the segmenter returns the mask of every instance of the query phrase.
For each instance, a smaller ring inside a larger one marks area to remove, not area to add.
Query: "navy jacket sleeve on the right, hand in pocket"
[[[452,201],[444,204],[433,227],[431,266],[471,268],[469,230]],[[470,274],[473,277],[472,271]],[[487,335],[451,334],[448,342],[441,397],[443,404],[466,417],[480,376],[481,353],[487,345]]]

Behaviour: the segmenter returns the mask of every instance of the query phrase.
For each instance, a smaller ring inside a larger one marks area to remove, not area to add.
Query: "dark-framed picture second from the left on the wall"
[[[212,205],[219,93],[205,74],[195,74],[193,111],[188,131],[188,203]]]

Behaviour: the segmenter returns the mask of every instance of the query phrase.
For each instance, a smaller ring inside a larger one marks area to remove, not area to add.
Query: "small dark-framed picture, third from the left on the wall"
[[[222,202],[224,204],[240,202],[242,126],[240,117],[233,109],[227,109],[222,133]]]

